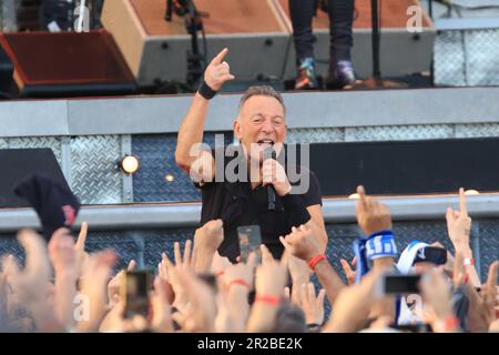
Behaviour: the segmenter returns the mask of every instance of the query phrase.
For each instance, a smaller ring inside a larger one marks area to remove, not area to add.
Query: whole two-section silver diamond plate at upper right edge
[[[435,42],[437,85],[497,85],[499,30],[444,31]]]

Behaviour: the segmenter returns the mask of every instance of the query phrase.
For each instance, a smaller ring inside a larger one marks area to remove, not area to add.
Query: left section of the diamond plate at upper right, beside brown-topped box
[[[434,48],[436,85],[466,85],[464,36],[460,31],[438,33]]]

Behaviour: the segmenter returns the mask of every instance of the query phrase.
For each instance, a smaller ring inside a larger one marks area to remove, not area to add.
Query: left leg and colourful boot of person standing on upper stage
[[[312,18],[315,13],[315,1],[289,0],[293,39],[296,49],[296,90],[318,88],[315,73],[314,34],[312,33]]]

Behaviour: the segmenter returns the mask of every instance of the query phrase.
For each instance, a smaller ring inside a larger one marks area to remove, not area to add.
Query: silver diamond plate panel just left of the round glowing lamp
[[[122,173],[116,163],[121,156],[118,135],[72,138],[72,190],[83,204],[122,203]]]

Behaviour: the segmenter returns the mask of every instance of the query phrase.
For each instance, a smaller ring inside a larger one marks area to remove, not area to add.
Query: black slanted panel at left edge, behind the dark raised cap
[[[28,207],[29,202],[19,197],[14,187],[34,173],[43,173],[62,186],[68,186],[61,168],[51,149],[0,150],[0,207]]]

